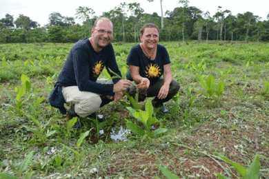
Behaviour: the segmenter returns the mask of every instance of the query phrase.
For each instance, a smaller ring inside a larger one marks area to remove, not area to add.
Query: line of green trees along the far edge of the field
[[[150,2],[154,0],[148,0]],[[114,25],[114,42],[139,42],[139,30],[145,23],[159,26],[160,41],[269,41],[269,13],[267,21],[252,12],[232,15],[230,10],[220,6],[215,14],[203,12],[194,6],[188,6],[188,0],[179,0],[181,7],[166,11],[163,17],[156,12],[148,14],[140,3],[120,3],[101,17],[108,17]],[[0,19],[0,43],[74,43],[91,36],[90,30],[99,17],[92,8],[76,9],[74,17],[64,17],[59,12],[52,12],[49,23],[41,27],[37,21],[19,14],[6,14]],[[75,23],[79,19],[80,23]]]

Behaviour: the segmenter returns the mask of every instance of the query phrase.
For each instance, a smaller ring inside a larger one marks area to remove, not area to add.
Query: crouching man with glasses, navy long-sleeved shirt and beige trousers
[[[107,70],[109,68],[119,76],[121,72],[110,43],[113,36],[110,19],[106,17],[97,19],[91,32],[90,39],[82,39],[71,48],[49,96],[50,105],[59,108],[62,114],[66,114],[63,103],[71,105],[68,119],[74,116],[86,118],[97,112],[99,107],[112,101],[113,97],[114,102],[119,101],[123,97],[122,91],[132,83],[119,78],[106,83],[102,79],[97,79],[103,67]],[[113,74],[110,73],[110,76]]]

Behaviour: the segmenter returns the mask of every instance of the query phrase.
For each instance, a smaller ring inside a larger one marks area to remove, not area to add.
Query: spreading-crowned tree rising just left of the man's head
[[[76,10],[76,19],[81,19],[82,23],[85,25],[84,29],[84,37],[86,38],[86,30],[89,28],[89,31],[91,29],[90,24],[93,23],[91,20],[91,17],[95,14],[94,10],[92,8],[88,7],[82,7],[79,6]],[[87,27],[88,26],[88,27]]]

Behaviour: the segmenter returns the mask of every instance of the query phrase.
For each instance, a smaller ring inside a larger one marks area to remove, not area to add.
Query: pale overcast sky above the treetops
[[[261,17],[261,21],[267,20],[266,16],[269,13],[269,1],[268,0],[189,0],[189,6],[195,6],[203,12],[209,11],[212,17],[216,12],[218,6],[222,7],[222,10],[230,10],[232,15],[236,16],[238,13],[252,12],[254,15]],[[96,16],[101,16],[102,12],[108,12],[115,6],[119,6],[120,3],[140,3],[144,12],[152,14],[157,12],[161,16],[160,0],[148,2],[147,0],[0,0],[0,19],[5,18],[6,14],[13,15],[14,20],[19,17],[19,14],[23,14],[30,17],[32,21],[37,21],[41,26],[48,24],[48,16],[52,12],[59,12],[66,17],[74,17],[76,9],[79,6],[85,6],[92,8],[95,11]],[[179,0],[163,0],[163,14],[167,10],[174,10],[174,8],[180,7]],[[78,23],[79,21],[76,20]]]

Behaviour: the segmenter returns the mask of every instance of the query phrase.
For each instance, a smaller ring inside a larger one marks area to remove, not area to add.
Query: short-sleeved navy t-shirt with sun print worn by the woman
[[[148,78],[150,83],[155,83],[163,75],[163,65],[170,63],[169,54],[163,45],[157,45],[157,54],[154,61],[148,59],[143,53],[140,44],[132,47],[130,50],[127,65],[139,67],[139,74],[144,78]],[[126,78],[133,81],[130,71],[126,73]]]

